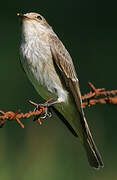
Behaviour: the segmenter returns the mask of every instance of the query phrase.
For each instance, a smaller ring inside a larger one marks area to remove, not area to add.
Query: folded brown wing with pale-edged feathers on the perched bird
[[[72,58],[57,36],[51,35],[49,39],[52,57],[62,72],[67,87],[73,94],[79,112],[83,114],[79,83]]]

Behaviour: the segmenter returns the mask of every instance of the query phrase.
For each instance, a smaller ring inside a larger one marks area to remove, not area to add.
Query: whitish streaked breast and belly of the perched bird
[[[46,39],[46,40],[45,40]],[[68,92],[57,75],[46,34],[29,35],[21,43],[21,62],[32,84],[43,98],[67,100]]]

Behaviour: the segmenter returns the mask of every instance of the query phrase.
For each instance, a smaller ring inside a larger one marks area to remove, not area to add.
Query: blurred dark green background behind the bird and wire
[[[75,63],[82,94],[88,82],[117,89],[116,1],[43,0],[3,1],[0,6],[0,109],[32,110],[28,100],[40,102],[20,67],[20,23],[17,12],[39,12],[53,26]],[[83,148],[61,121],[45,120],[43,126],[24,120],[0,129],[1,180],[116,180],[117,107],[96,105],[85,109],[88,123],[105,167],[89,167]]]

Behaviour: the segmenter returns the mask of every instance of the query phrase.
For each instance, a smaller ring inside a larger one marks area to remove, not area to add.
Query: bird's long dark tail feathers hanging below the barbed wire
[[[85,133],[84,133],[84,138],[83,138],[83,145],[87,154],[87,158],[89,161],[89,164],[96,168],[99,169],[100,167],[103,167],[103,161],[101,158],[101,155],[93,141],[91,132],[89,130],[88,124],[84,118],[84,125],[85,125]]]

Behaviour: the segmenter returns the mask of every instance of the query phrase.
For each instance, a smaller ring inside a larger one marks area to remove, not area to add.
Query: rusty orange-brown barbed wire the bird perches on
[[[83,108],[86,106],[94,106],[96,104],[113,104],[117,105],[117,90],[106,91],[105,88],[96,89],[92,83],[89,83],[91,87],[91,91],[84,96],[82,96]],[[51,102],[53,99],[49,99],[45,104]],[[32,105],[37,107],[38,104],[29,101]],[[20,111],[13,112],[8,111],[4,112],[0,110],[0,128],[4,126],[7,121],[15,120],[22,128],[24,128],[24,124],[20,119],[28,119],[30,117],[37,117],[37,122],[42,125],[40,120],[40,116],[42,116],[46,112],[47,108],[40,106],[39,110],[29,111],[28,113],[21,113]]]

